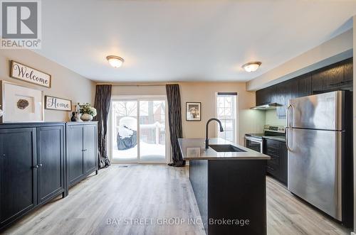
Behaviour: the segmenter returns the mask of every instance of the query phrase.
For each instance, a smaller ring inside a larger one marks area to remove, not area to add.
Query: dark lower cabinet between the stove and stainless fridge
[[[263,153],[271,157],[267,160],[267,173],[287,185],[288,151],[286,142],[263,138]]]

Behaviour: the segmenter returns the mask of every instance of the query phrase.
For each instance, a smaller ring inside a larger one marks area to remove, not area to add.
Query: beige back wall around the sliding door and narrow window
[[[238,92],[239,94],[239,143],[244,143],[245,133],[261,132],[265,123],[264,111],[249,109],[255,105],[255,93],[246,92],[245,83],[238,82],[178,82],[182,97],[182,128],[184,138],[203,138],[205,124],[216,116],[216,92]],[[166,94],[164,86],[120,86],[112,88],[112,95]],[[185,103],[201,102],[201,121],[185,120]],[[216,136],[216,124],[211,123],[209,137]]]

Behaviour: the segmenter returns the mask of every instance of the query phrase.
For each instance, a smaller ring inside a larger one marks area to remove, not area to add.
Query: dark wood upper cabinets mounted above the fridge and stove
[[[353,58],[308,72],[291,80],[256,91],[256,105],[276,102],[277,116],[286,118],[289,99],[311,94],[332,92],[338,89],[352,90]]]

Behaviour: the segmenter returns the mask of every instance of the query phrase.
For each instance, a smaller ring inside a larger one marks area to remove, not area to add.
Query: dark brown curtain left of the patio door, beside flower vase
[[[99,168],[107,168],[110,165],[108,151],[106,146],[106,134],[108,132],[108,116],[110,110],[112,85],[96,85],[95,109],[98,115],[95,121],[98,121],[98,160]]]

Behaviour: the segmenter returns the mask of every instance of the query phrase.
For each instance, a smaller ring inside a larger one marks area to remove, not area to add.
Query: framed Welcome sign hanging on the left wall
[[[43,87],[51,87],[51,75],[35,70],[33,67],[22,65],[14,60],[11,60],[10,76]]]

